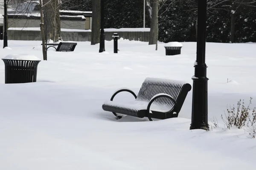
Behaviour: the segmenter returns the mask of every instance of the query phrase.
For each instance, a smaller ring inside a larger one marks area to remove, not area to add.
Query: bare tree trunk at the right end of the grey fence
[[[159,0],[151,0],[152,15],[148,45],[157,44],[158,40],[158,4]],[[157,50],[157,46],[156,46]]]

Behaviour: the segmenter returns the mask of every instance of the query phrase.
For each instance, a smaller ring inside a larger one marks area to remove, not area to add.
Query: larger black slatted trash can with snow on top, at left
[[[36,82],[41,60],[2,59],[5,64],[5,83]]]

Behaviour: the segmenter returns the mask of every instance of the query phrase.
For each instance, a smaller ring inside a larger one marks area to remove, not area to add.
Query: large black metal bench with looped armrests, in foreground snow
[[[177,117],[191,85],[177,80],[146,78],[140,88],[138,96],[128,88],[117,90],[110,101],[106,101],[102,108],[112,112],[117,119],[122,115],[139,118],[168,119]],[[113,101],[119,92],[130,92],[135,100],[129,103]]]

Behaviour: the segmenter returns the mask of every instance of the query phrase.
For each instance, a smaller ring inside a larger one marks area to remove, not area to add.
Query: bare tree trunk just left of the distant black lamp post
[[[91,33],[91,45],[99,43],[100,37],[100,0],[92,0],[92,33]]]

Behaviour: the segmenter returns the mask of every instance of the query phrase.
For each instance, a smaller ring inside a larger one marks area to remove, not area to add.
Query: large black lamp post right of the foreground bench
[[[192,120],[190,129],[209,129],[207,102],[207,65],[205,64],[207,0],[198,0],[198,34],[195,76],[193,79]]]

